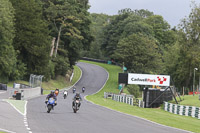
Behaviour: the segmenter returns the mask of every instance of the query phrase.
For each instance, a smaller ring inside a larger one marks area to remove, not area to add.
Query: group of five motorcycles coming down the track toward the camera
[[[72,92],[75,93],[76,89],[73,88]],[[84,92],[85,92],[85,87],[82,88],[82,93],[84,93]],[[63,93],[64,99],[67,98],[67,95],[68,95],[68,92],[64,91],[64,93]],[[47,103],[46,103],[46,105],[47,105],[47,113],[50,113],[50,111],[54,108],[54,106],[56,104],[57,103],[56,103],[56,100],[54,98],[49,98],[48,101],[47,101]],[[79,110],[80,104],[81,103],[80,103],[80,99],[79,98],[73,99],[72,109],[73,109],[74,113],[76,113]]]

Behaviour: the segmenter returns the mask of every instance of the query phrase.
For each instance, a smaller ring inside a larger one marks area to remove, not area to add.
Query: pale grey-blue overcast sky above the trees
[[[190,14],[191,1],[200,3],[200,0],[89,0],[89,12],[116,15],[124,8],[147,9],[163,16],[164,20],[174,27]]]

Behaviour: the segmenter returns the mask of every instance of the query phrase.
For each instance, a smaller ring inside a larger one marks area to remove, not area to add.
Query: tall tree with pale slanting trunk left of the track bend
[[[80,57],[81,49],[88,49],[92,41],[90,33],[88,0],[49,0],[44,2],[45,18],[49,22],[51,36],[56,37],[56,50],[64,49],[72,67]]]

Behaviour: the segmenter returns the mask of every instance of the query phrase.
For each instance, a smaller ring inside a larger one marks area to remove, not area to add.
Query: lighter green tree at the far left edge
[[[0,1],[0,81],[7,83],[15,71],[16,53],[13,48],[14,9],[9,0]]]

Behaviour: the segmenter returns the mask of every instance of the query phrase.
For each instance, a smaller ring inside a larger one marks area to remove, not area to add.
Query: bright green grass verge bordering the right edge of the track
[[[184,130],[189,130],[192,132],[200,132],[200,120],[197,118],[192,118],[188,116],[175,115],[164,111],[162,108],[139,108],[131,106],[125,103],[119,103],[111,99],[104,99],[104,92],[118,93],[118,73],[122,72],[121,68],[118,66],[95,63],[89,61],[81,61],[90,64],[96,64],[105,68],[109,72],[109,80],[107,81],[104,88],[97,94],[87,96],[89,101],[92,101],[98,105],[108,107],[126,114],[138,116],[151,120],[163,125],[176,127]]]

